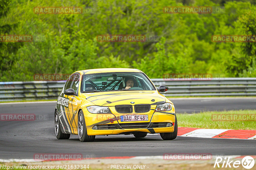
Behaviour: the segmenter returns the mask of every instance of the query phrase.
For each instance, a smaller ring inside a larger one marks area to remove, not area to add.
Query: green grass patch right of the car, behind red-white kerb
[[[203,129],[256,130],[256,121],[213,121],[212,114],[253,114],[256,110],[209,111],[193,114],[177,114],[179,127]]]

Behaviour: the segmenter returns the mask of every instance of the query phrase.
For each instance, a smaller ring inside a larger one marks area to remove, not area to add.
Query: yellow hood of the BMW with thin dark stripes
[[[97,106],[115,106],[124,104],[162,104],[165,97],[156,90],[109,91],[82,93],[81,97]],[[134,102],[134,103],[133,103]]]

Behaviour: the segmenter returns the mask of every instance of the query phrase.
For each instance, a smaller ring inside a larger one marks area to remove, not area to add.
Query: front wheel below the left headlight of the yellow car
[[[92,135],[92,136],[87,135],[86,124],[84,120],[84,113],[82,110],[78,114],[77,133],[78,133],[79,140],[81,142],[93,142],[95,140],[95,135]]]

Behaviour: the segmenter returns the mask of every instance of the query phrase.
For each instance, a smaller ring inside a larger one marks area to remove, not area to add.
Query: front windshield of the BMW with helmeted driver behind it
[[[81,86],[82,93],[118,90],[156,89],[142,73],[100,73],[83,76]]]

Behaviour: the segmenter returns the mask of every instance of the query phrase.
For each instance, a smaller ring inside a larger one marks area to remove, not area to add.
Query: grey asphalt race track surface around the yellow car
[[[256,98],[173,99],[177,113],[207,110],[256,109]],[[177,137],[164,141],[160,135],[135,139],[133,135],[96,136],[80,142],[78,136],[58,140],[54,134],[54,108],[50,103],[0,104],[0,114],[36,114],[35,121],[0,121],[0,159],[33,159],[36,153],[82,153],[88,157],[151,156],[164,153],[211,153],[255,155],[256,140]],[[179,121],[178,121],[179,123]]]

